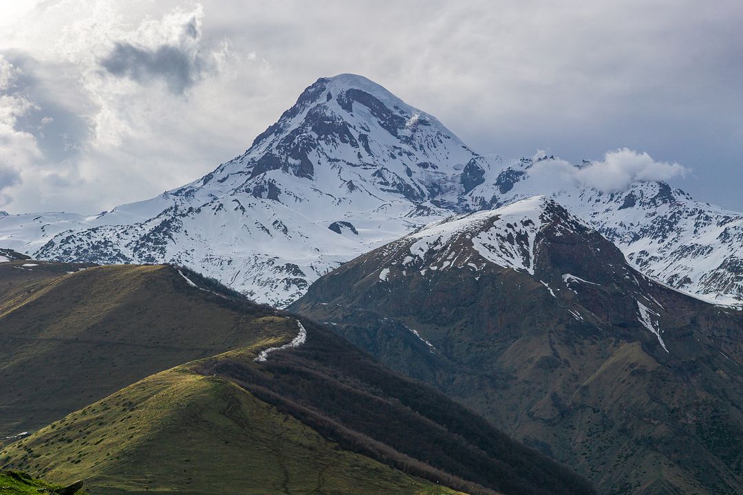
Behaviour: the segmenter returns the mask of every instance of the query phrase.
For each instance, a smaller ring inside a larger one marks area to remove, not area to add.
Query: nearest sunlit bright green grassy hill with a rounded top
[[[0,464],[97,494],[455,494],[341,450],[224,378],[178,367],[70,414]]]

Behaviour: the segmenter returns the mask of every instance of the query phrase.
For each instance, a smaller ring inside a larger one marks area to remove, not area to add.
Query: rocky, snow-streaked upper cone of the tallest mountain
[[[279,187],[281,174],[290,174],[335,197],[393,194],[455,206],[484,167],[435,117],[369,79],[341,74],[318,79],[250,149],[189,187],[250,186],[282,201],[291,193]]]

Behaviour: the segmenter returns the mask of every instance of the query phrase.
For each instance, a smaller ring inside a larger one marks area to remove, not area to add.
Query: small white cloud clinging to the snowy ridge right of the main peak
[[[603,192],[625,191],[637,181],[672,180],[690,172],[678,163],[658,162],[643,152],[629,148],[607,151],[603,160],[591,161],[577,167],[560,158],[540,160],[544,151],[537,151],[536,163],[529,169],[535,183],[545,187],[567,188],[573,183]]]

